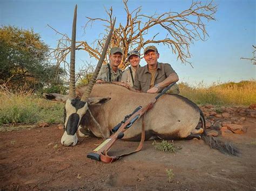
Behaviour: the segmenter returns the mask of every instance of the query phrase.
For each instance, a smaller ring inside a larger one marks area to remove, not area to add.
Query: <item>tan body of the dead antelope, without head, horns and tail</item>
[[[136,93],[116,84],[95,84],[91,97],[110,97],[103,105],[89,105],[105,137],[123,118],[139,105],[146,106],[157,94]],[[82,122],[96,137],[103,137],[90,114]],[[164,139],[185,138],[195,130],[200,118],[196,104],[179,95],[163,95],[145,116],[146,139],[158,136]],[[125,131],[125,140],[140,140],[142,119]]]

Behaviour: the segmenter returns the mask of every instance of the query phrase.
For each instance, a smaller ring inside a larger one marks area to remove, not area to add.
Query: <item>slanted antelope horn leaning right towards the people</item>
[[[109,36],[107,37],[106,43],[105,43],[104,48],[103,48],[102,56],[100,56],[100,59],[98,61],[98,65],[97,65],[97,67],[95,69],[95,72],[93,73],[93,76],[92,76],[92,79],[89,82],[89,85],[87,86],[87,88],[85,90],[85,93],[83,94],[83,96],[81,98],[81,101],[86,101],[87,97],[91,94],[92,87],[95,84],[96,78],[97,78],[97,76],[99,74],[99,70],[102,67],[102,63],[103,63],[103,61],[105,59],[105,55],[106,55],[107,49],[109,48],[110,40],[111,40],[113,29],[114,29],[114,23],[116,23],[116,18],[114,18],[114,20],[113,20],[113,24],[111,26],[111,30],[109,32]]]

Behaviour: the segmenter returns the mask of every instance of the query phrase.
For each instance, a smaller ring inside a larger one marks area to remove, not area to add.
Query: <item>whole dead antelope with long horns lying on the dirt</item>
[[[76,8],[74,23],[76,18]],[[77,130],[88,129],[96,137],[107,138],[110,130],[117,125],[125,115],[130,114],[138,105],[147,105],[156,94],[136,93],[111,83],[93,84],[109,46],[114,23],[107,38],[102,57],[100,58],[92,81],[87,87],[80,87],[75,94],[75,24],[73,24],[71,48],[71,75],[69,96],[59,94],[43,94],[48,100],[65,102],[64,134],[61,143],[64,146],[77,144]],[[90,97],[89,97],[90,95]],[[203,128],[197,129],[201,121]],[[141,135],[142,119],[125,131],[123,140],[137,141]],[[237,155],[238,151],[232,145],[220,142],[212,136],[207,136],[205,118],[200,108],[192,101],[180,95],[163,95],[145,116],[145,140],[191,139],[203,138],[211,147],[221,152]]]

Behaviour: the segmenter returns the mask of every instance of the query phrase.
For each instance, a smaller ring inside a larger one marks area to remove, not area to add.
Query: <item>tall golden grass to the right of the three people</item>
[[[179,83],[180,95],[197,104],[243,105],[256,103],[256,81],[241,81],[239,83],[213,83],[207,87],[204,82],[190,87]]]

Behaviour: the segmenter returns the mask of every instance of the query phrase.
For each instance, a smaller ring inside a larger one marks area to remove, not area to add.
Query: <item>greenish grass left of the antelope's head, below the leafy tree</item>
[[[34,95],[1,92],[0,105],[0,125],[63,121],[63,103],[50,102]]]

